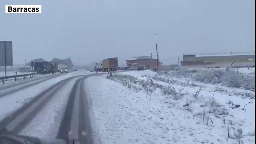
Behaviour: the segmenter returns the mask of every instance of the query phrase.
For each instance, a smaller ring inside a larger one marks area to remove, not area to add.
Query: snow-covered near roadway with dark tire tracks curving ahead
[[[87,100],[81,83],[85,77],[95,74],[101,73],[78,71],[25,83],[9,83],[10,86],[0,91],[0,129],[42,139],[69,141],[70,138],[90,143],[90,125],[84,123],[88,121]],[[74,115],[73,109],[79,114]],[[79,129],[80,125],[84,129]]]

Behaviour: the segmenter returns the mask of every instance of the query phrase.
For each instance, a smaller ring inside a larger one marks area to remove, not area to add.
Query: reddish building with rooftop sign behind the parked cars
[[[157,67],[157,59],[152,58],[152,56],[138,56],[131,57],[125,60],[127,67],[131,66],[145,65],[146,67],[155,68]],[[160,61],[158,62],[160,65]]]

